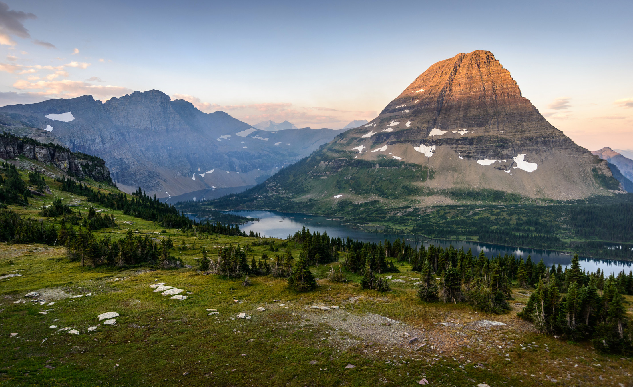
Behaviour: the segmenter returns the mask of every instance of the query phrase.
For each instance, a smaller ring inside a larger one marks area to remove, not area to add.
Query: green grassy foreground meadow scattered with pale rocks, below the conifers
[[[53,197],[71,199],[66,193],[53,191],[44,202]],[[22,207],[16,210],[35,214]],[[135,221],[134,228],[141,233],[161,229],[112,212],[117,221]],[[194,264],[203,245],[213,251],[223,243],[254,241],[245,237],[201,238],[177,231],[167,233],[177,247],[182,242],[190,247],[196,243],[195,250],[174,252],[185,264]],[[122,235],[118,232],[122,230],[101,230],[99,234],[117,238]],[[261,257],[265,251],[264,246],[254,247],[249,259],[253,254]],[[298,250],[293,251],[298,255]],[[23,274],[0,280],[0,384],[7,386],[366,386],[385,382],[413,386],[422,378],[436,386],[536,386],[551,383],[546,376],[560,377],[565,384],[611,385],[627,384],[633,374],[630,360],[600,355],[588,343],[565,343],[534,332],[515,316],[520,306],[505,316],[475,314],[467,305],[425,304],[415,297],[415,286],[405,283],[392,283],[391,292],[379,294],[361,290],[354,283],[322,280],[315,292],[297,294],[287,289],[285,280],[272,276],[252,278],[253,286],[244,288],[241,281],[204,276],[192,269],[82,267],[69,262],[60,247],[3,243],[0,254],[1,274]],[[400,274],[417,277],[408,272],[409,268],[402,266]],[[327,271],[323,266],[311,269],[321,278]],[[154,280],[192,294],[182,302],[170,300],[151,292],[147,286]],[[358,281],[358,277],[350,274],[348,280]],[[34,290],[41,292],[39,298],[56,304],[13,303]],[[66,298],[61,292],[92,296]],[[515,302],[525,303],[527,292],[515,292],[515,298]],[[304,309],[315,302],[344,309]],[[260,305],[267,310],[257,312]],[[207,316],[207,308],[218,309],[218,318]],[[54,310],[39,314],[46,309]],[[99,324],[97,314],[111,310],[120,313],[115,326],[101,325],[87,333],[89,326]],[[241,311],[253,318],[234,320]],[[387,345],[378,336],[332,329],[332,325],[367,313],[401,321],[411,329],[425,329],[429,345],[415,352],[412,348],[417,345],[406,345],[404,338],[402,345]],[[434,324],[477,319],[503,321],[508,326],[467,329]],[[81,335],[57,333],[57,329],[48,328],[51,324],[58,329],[76,328]],[[18,335],[11,338],[11,332]],[[339,340],[344,336],[349,337],[347,341]],[[521,350],[518,345],[532,342],[539,347]],[[310,364],[311,360],[316,364]],[[406,363],[396,365],[394,360]],[[385,364],[387,361],[391,364]],[[348,363],[356,368],[344,368]],[[189,374],[184,376],[184,372]]]

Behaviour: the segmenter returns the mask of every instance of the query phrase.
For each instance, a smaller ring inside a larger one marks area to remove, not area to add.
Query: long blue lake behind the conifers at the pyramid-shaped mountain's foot
[[[376,242],[384,241],[385,239],[391,240],[393,243],[396,238],[405,239],[411,246],[415,245],[418,248],[422,243],[425,247],[429,247],[432,243],[436,246],[449,247],[453,245],[455,249],[464,248],[464,250],[472,249],[473,254],[477,255],[481,250],[488,256],[491,255],[505,255],[506,252],[510,255],[514,254],[517,257],[522,256],[523,259],[527,259],[527,255],[532,257],[532,261],[538,262],[543,259],[546,266],[551,267],[552,264],[561,264],[563,268],[568,266],[571,262],[572,256],[556,252],[553,250],[540,250],[540,249],[523,249],[519,247],[510,247],[504,245],[494,245],[492,243],[479,243],[479,242],[465,242],[460,240],[435,240],[419,235],[391,235],[384,233],[375,233],[363,231],[358,226],[350,226],[344,224],[344,221],[338,218],[327,218],[325,216],[315,216],[299,214],[296,212],[277,212],[277,211],[259,211],[259,210],[245,210],[245,211],[230,211],[234,214],[242,216],[249,216],[251,218],[258,218],[258,221],[252,221],[241,226],[242,230],[247,233],[251,230],[256,233],[260,233],[262,236],[275,237],[275,238],[287,238],[289,235],[293,235],[295,231],[300,230],[303,226],[310,228],[310,231],[323,231],[327,232],[330,237],[352,238],[358,239],[363,242]],[[581,266],[587,271],[596,271],[598,267],[607,273],[619,273],[623,269],[628,273],[632,269],[632,262],[630,261],[617,261],[610,259],[594,259],[588,257],[580,257]]]

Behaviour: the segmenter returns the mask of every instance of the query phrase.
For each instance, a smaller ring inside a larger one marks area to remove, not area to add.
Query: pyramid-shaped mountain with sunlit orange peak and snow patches
[[[574,144],[522,96],[491,52],[473,51],[430,66],[377,118],[239,202],[283,211],[365,205],[411,211],[456,202],[586,199],[621,188],[606,161]]]

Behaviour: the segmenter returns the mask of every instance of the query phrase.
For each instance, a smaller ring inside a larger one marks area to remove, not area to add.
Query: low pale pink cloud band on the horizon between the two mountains
[[[377,116],[375,111],[344,111],[330,107],[299,107],[289,102],[244,104],[244,105],[220,105],[202,102],[198,97],[189,94],[173,94],[173,99],[184,99],[191,102],[197,109],[205,113],[214,111],[230,112],[232,116],[252,124],[260,121],[272,120],[275,122],[291,121],[295,125],[323,127],[342,127],[352,120],[371,119]],[[327,112],[328,114],[323,114]]]

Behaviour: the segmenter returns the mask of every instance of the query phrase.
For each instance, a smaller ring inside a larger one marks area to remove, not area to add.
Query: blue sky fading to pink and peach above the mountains
[[[484,49],[577,144],[633,149],[631,20],[630,1],[6,1],[0,106],[156,89],[337,129]]]

